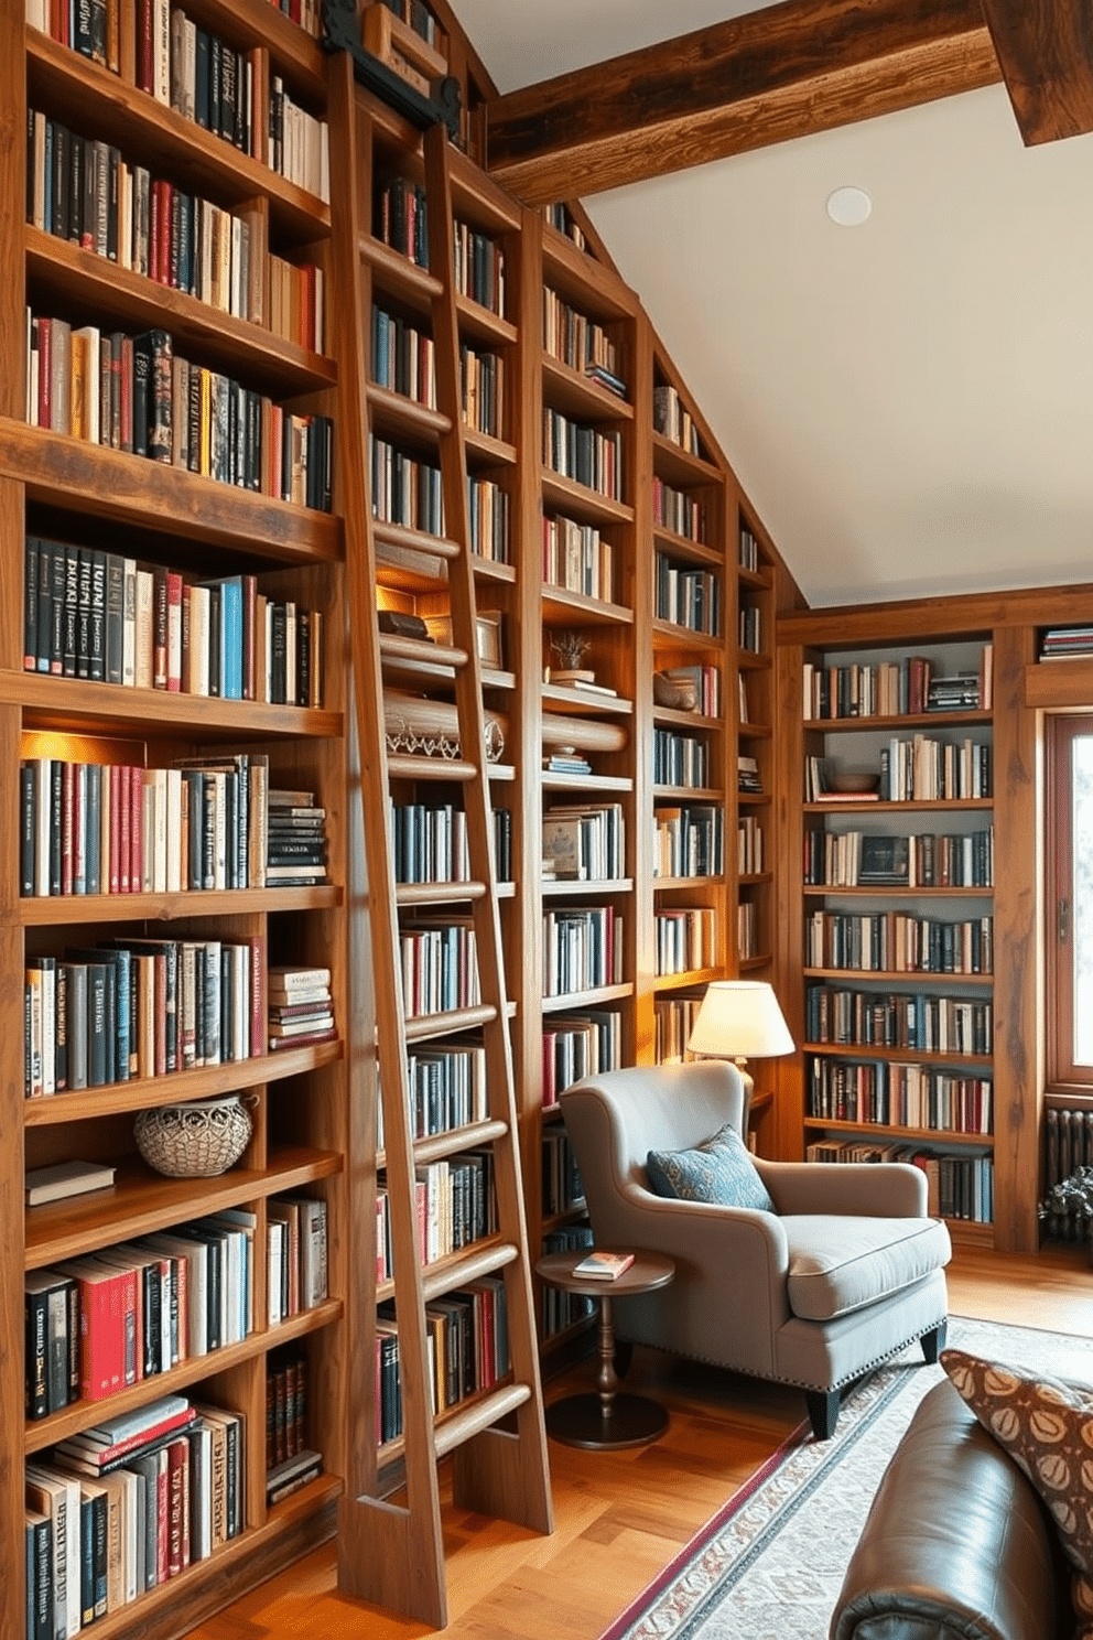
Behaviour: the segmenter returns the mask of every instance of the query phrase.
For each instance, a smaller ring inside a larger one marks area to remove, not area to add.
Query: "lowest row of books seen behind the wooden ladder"
[[[505,1281],[485,1276],[433,1299],[424,1309],[433,1414],[490,1389],[510,1371]],[[393,1310],[377,1315],[375,1438],[380,1445],[403,1432],[398,1323]]]

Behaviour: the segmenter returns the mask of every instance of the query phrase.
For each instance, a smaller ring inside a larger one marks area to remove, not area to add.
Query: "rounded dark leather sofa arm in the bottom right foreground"
[[[1068,1584],[1036,1489],[944,1379],[885,1471],[829,1640],[1067,1640]]]

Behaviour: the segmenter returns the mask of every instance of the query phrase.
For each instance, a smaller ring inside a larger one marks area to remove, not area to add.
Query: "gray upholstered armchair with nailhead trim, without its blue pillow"
[[[818,1440],[862,1373],[914,1340],[937,1360],[952,1250],[926,1215],[918,1168],[755,1158],[775,1212],[655,1196],[651,1150],[741,1130],[744,1084],[719,1059],[590,1076],[562,1094],[562,1112],[596,1245],[677,1264],[670,1286],[615,1302],[619,1340],[798,1384]]]

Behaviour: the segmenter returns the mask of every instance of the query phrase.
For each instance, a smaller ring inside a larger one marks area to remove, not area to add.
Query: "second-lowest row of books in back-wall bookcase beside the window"
[[[850,1063],[810,1058],[810,1117],[873,1122],[880,1127],[937,1128],[946,1133],[993,1132],[993,1084],[985,1076],[959,1076],[887,1059]]]

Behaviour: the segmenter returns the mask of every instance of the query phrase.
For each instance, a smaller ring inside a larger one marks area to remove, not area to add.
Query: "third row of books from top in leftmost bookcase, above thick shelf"
[[[74,328],[26,310],[26,420],[220,484],[331,510],[333,421],[175,353],[166,330]]]

